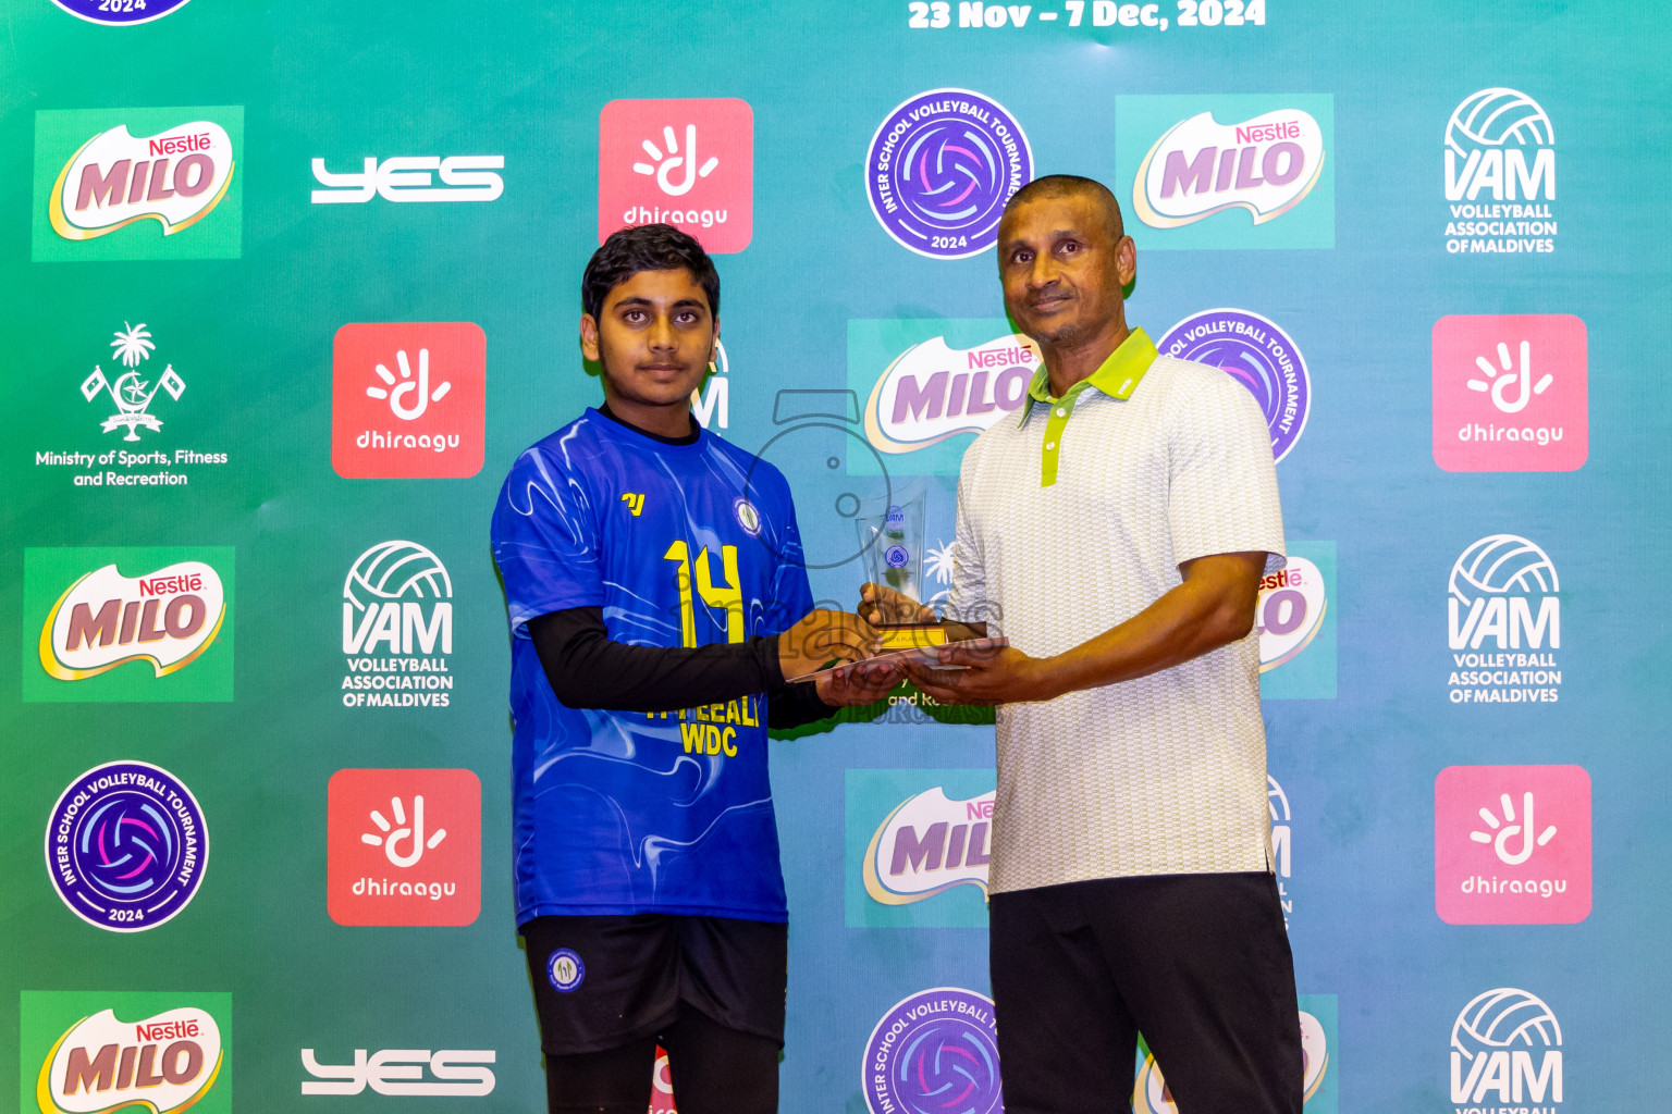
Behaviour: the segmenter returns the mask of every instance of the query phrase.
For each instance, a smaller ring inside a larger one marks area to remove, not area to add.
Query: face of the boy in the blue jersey
[[[604,367],[605,394],[640,406],[691,399],[714,359],[719,321],[684,267],[640,271],[580,316],[580,351]]]

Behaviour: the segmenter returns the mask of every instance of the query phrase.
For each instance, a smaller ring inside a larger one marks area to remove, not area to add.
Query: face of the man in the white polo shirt
[[[1132,237],[1117,237],[1090,197],[1038,197],[998,225],[1005,309],[1042,344],[1073,344],[1122,321],[1120,289],[1135,274]]]

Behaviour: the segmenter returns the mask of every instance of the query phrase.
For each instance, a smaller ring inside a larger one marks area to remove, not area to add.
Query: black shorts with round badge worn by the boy
[[[535,917],[528,950],[540,1049],[604,1052],[652,1037],[696,1009],[784,1044],[789,932],[731,917]]]

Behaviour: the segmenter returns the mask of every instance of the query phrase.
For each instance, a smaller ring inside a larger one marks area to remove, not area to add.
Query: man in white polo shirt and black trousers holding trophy
[[[1124,1106],[1142,1032],[1180,1114],[1299,1114],[1251,633],[1284,565],[1271,436],[1237,381],[1127,327],[1137,254],[1104,185],[1023,187],[998,271],[1043,367],[963,458],[946,618],[1010,648],[911,671],[1000,705],[1005,1109]],[[866,598],[878,618],[906,603]]]

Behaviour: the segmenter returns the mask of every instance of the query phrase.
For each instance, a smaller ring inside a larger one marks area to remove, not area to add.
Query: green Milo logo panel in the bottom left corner
[[[232,1109],[231,994],[23,990],[18,1020],[18,1109]]]

